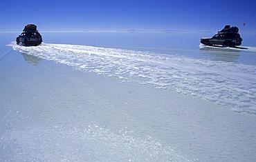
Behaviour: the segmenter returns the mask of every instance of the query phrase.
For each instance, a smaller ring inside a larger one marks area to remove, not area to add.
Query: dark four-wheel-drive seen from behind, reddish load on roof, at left
[[[25,26],[23,32],[16,38],[17,44],[21,45],[39,45],[42,43],[42,35],[38,32],[37,26],[28,24]]]

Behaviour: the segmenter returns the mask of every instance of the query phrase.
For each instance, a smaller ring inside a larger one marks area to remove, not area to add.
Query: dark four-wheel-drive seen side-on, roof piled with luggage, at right
[[[237,27],[233,26],[230,28],[230,26],[225,26],[223,30],[219,31],[212,38],[201,38],[201,43],[205,45],[235,47],[236,45],[241,45],[242,40]]]

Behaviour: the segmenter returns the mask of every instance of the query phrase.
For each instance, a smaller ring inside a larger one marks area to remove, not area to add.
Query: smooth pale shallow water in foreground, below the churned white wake
[[[254,115],[17,51],[0,61],[3,161],[255,159]]]

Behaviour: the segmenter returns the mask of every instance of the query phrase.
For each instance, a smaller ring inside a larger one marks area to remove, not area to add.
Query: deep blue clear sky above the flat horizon
[[[256,32],[256,1],[207,0],[1,0],[0,32],[193,30],[217,31],[226,24]]]

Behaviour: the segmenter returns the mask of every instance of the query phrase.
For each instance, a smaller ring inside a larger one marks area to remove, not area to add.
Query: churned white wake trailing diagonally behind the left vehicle
[[[88,45],[11,45],[19,52],[71,65],[77,70],[175,89],[227,105],[235,112],[256,114],[255,65]],[[249,50],[255,52],[254,48]]]

